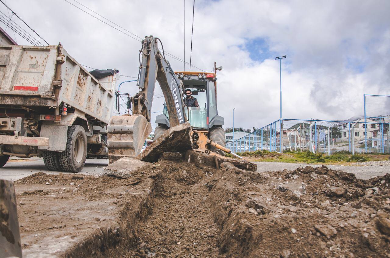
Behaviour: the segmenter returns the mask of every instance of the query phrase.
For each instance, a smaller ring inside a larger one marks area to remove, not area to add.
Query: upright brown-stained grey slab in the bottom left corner
[[[0,180],[0,258],[22,257],[14,183]]]

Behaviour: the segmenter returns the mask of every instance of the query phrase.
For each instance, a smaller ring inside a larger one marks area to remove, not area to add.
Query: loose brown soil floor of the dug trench
[[[168,165],[159,179],[151,215],[138,224],[138,245],[123,257],[226,257],[218,248],[220,227],[205,186],[215,170],[188,163]]]

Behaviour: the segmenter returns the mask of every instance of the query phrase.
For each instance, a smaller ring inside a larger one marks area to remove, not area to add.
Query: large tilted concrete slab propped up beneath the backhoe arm
[[[192,150],[190,136],[191,125],[189,122],[176,125],[153,141],[153,143],[141,152],[136,158],[142,161],[156,162],[163,152],[185,152]]]

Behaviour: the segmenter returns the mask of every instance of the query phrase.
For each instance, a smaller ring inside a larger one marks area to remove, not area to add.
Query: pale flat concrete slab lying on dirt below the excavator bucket
[[[131,177],[131,171],[150,164],[152,163],[124,157],[114,161],[111,164],[108,164],[108,166],[100,173],[100,175],[111,175],[119,178],[128,178]]]

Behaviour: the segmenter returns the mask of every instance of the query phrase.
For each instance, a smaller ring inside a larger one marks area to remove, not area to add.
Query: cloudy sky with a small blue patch
[[[137,76],[139,37],[145,35],[159,37],[165,51],[181,60],[185,51],[190,61],[192,0],[3,1],[43,39],[61,42],[83,65]],[[287,55],[282,60],[283,118],[361,115],[364,93],[390,95],[388,10],[387,0],[195,0],[191,63],[204,71],[211,71],[214,61],[223,67],[217,103],[224,127],[232,126],[233,108],[236,127],[258,128],[280,117],[279,61],[274,60],[279,55]],[[12,15],[4,5],[0,11]],[[22,26],[15,16],[12,21]],[[6,31],[18,44],[29,44]],[[175,71],[189,69],[167,59]],[[137,90],[135,83],[121,86],[121,92]],[[162,95],[160,88],[155,95]],[[163,98],[154,99],[152,112],[162,107]]]

